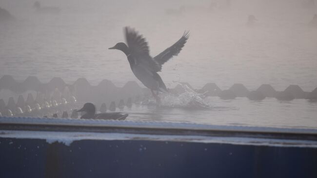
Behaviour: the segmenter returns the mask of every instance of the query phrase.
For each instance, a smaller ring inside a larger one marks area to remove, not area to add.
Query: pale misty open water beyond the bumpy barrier
[[[317,86],[317,28],[310,24],[317,10],[304,0],[40,1],[59,13],[39,13],[34,2],[0,1],[16,18],[0,24],[1,76],[110,79],[119,86],[138,81],[124,54],[108,50],[124,42],[123,27],[131,26],[146,38],[152,57],[190,31],[180,54],[159,73],[168,87],[178,81],[224,89],[233,83]],[[252,26],[249,15],[257,19]]]

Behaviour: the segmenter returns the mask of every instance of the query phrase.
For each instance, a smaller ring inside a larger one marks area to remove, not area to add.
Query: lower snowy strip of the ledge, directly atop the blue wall
[[[236,138],[236,137],[204,137],[204,136],[161,136],[120,133],[87,133],[87,132],[45,132],[45,131],[0,131],[0,138],[45,139],[47,143],[63,143],[70,146],[77,140],[151,140],[179,141],[199,143],[219,143],[234,145],[277,146],[277,147],[310,147],[317,148],[317,141],[284,140],[269,138]]]

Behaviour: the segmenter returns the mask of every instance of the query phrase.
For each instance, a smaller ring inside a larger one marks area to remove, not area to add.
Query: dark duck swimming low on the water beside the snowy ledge
[[[93,103],[87,102],[84,106],[79,109],[77,112],[86,112],[86,114],[82,115],[80,119],[116,119],[116,120],[124,120],[128,117],[128,114],[120,114],[120,113],[99,113],[96,114],[96,107]]]

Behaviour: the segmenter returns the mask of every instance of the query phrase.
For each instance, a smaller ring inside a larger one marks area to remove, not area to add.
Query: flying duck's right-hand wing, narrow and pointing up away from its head
[[[154,60],[162,66],[167,60],[171,59],[173,56],[177,56],[181,48],[184,47],[186,41],[189,38],[189,32],[184,32],[183,36],[171,47],[165,49],[163,52],[154,57]]]

